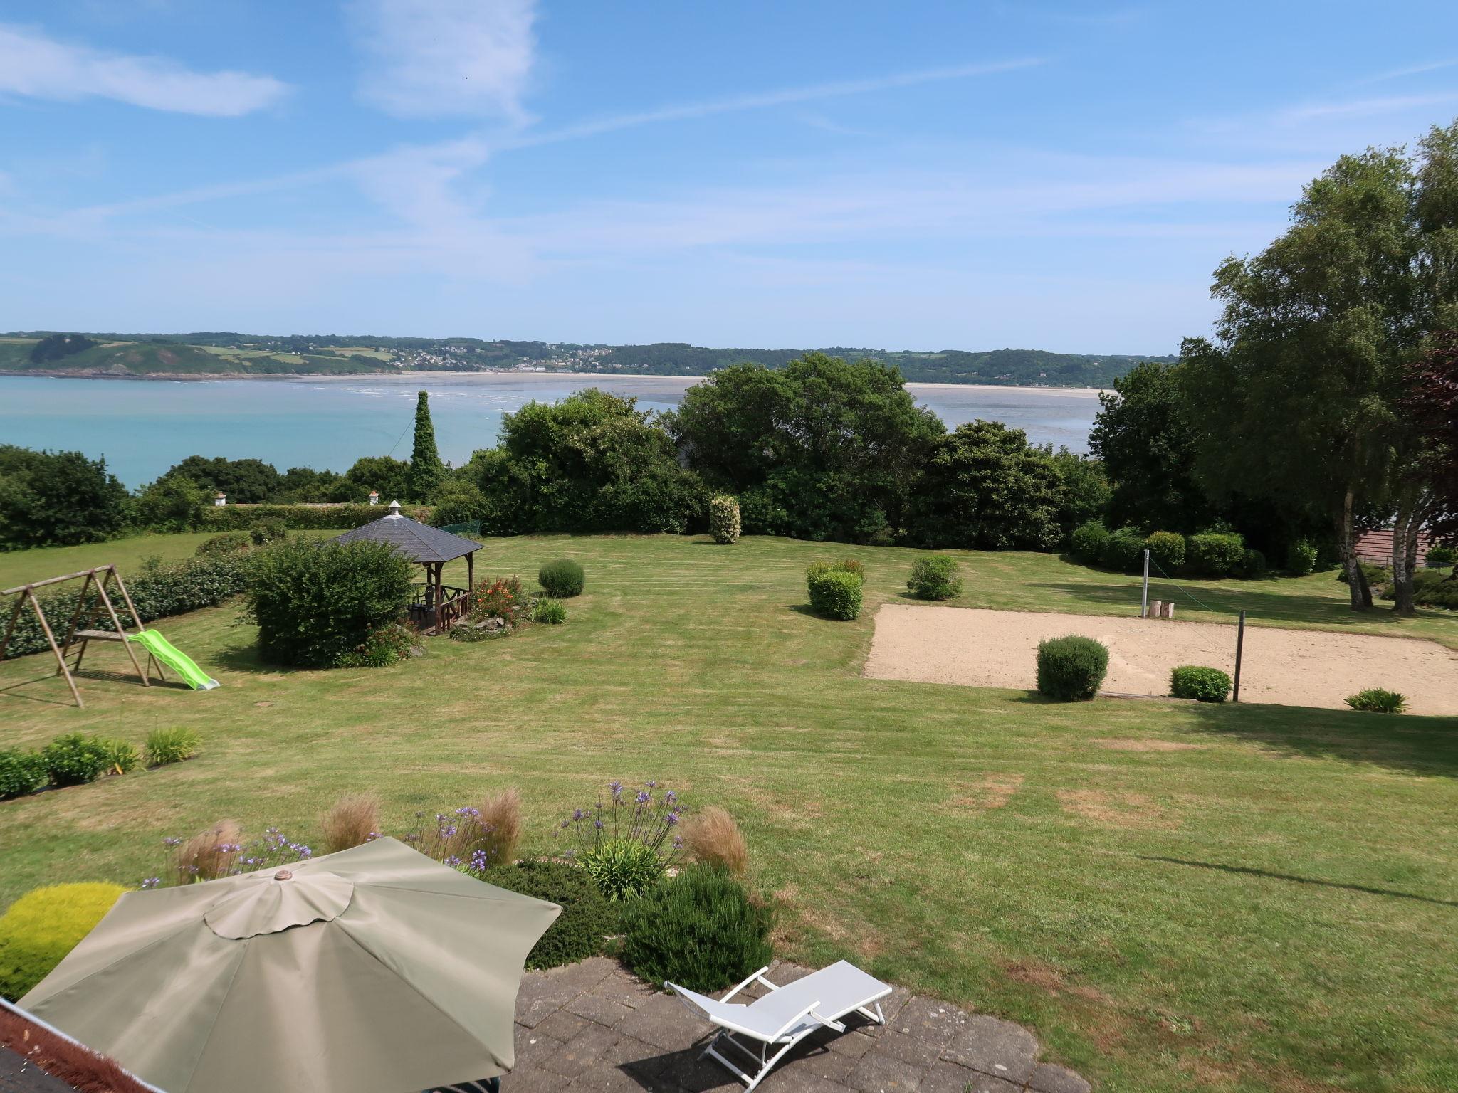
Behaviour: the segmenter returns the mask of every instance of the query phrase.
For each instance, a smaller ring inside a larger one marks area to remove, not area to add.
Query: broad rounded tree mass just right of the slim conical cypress
[[[507,533],[688,530],[703,517],[703,484],[636,404],[588,388],[506,414],[500,444],[464,468],[483,494],[480,519]]]

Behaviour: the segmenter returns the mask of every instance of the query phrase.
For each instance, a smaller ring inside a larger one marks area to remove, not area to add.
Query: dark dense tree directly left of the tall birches
[[[1194,477],[1194,431],[1178,366],[1136,364],[1099,402],[1089,450],[1104,461],[1112,485],[1110,526],[1193,532],[1209,523],[1213,512]]]

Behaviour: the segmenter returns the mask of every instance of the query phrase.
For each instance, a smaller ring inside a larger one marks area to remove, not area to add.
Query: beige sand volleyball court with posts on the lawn
[[[1178,665],[1235,669],[1233,625],[888,603],[865,675],[1032,689],[1038,643],[1063,634],[1108,646],[1104,689],[1114,694],[1166,695]],[[1368,686],[1401,691],[1408,713],[1458,714],[1458,654],[1436,641],[1247,624],[1242,702],[1346,710]]]

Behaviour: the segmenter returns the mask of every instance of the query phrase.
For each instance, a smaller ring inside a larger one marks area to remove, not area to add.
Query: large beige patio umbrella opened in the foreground
[[[382,838],[130,892],[20,1006],[168,1093],[414,1093],[510,1070],[560,912]]]

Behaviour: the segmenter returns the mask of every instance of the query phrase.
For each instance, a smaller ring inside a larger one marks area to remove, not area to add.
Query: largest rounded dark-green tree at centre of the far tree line
[[[901,373],[808,353],[783,370],[735,364],[691,388],[668,428],[687,463],[735,494],[748,532],[892,538],[942,423]]]

